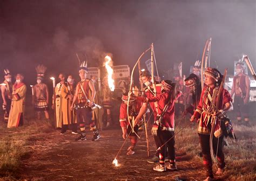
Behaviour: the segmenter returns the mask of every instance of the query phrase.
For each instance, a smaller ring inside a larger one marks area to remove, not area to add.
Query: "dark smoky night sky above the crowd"
[[[256,1],[0,1],[0,68],[34,81],[35,66],[48,75],[77,74],[78,52],[89,66],[106,52],[114,65],[135,64],[154,43],[159,73],[183,61],[184,73],[201,59],[212,37],[211,66],[233,74],[233,61],[248,54],[256,68]],[[150,58],[150,53],[143,61]],[[2,72],[2,71],[1,71]]]

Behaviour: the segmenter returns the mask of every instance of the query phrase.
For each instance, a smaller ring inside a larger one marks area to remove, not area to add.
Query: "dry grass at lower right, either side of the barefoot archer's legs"
[[[227,167],[221,179],[256,180],[256,126],[246,127],[237,124],[233,126],[238,139],[225,139],[228,143],[228,146],[224,147]],[[184,124],[180,126],[180,128],[182,127],[184,127]],[[203,159],[199,156],[200,145],[196,130],[196,126],[188,127],[177,135],[176,148],[186,151],[186,154],[193,156],[201,164]],[[216,165],[214,165],[214,168],[217,169]]]

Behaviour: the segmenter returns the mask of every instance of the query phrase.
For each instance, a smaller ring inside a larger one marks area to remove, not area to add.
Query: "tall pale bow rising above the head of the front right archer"
[[[201,61],[201,87],[202,87],[202,90],[204,88],[204,69],[207,68],[208,58],[209,58],[209,66],[210,66],[211,41],[212,41],[212,38],[206,40],[204,52],[202,55],[202,61]],[[205,53],[205,51],[206,51],[206,53]]]

